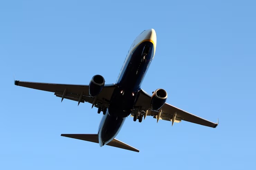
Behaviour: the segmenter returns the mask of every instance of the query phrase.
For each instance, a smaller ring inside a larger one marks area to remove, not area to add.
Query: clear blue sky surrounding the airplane
[[[256,169],[255,1],[1,1],[0,169]],[[142,88],[217,122],[128,117],[117,139],[139,153],[61,137],[97,133],[91,104],[13,84],[115,83],[132,41],[157,34]]]

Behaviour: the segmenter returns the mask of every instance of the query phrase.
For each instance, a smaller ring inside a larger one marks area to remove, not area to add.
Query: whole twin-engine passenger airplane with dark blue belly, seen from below
[[[144,30],[132,42],[125,62],[114,84],[105,84],[101,75],[92,77],[89,85],[55,84],[15,81],[15,85],[54,92],[61,101],[74,100],[78,105],[89,102],[103,112],[97,134],[61,134],[61,136],[99,143],[100,147],[109,145],[139,152],[138,149],[117,140],[126,118],[131,115],[139,122],[146,116],[172,122],[181,120],[216,128],[218,123],[205,120],[189,112],[166,103],[167,92],[157,89],[152,96],[141,89],[141,82],[154,59],[156,51],[156,32]]]

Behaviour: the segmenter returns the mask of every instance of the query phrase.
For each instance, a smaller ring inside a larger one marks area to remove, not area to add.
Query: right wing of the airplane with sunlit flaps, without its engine
[[[139,98],[135,104],[135,107],[141,107],[141,110],[148,110],[146,116],[153,116],[154,118],[157,118],[157,121],[159,119],[168,120],[172,121],[173,124],[174,122],[180,122],[181,120],[185,120],[188,122],[197,123],[212,128],[216,128],[218,126],[218,123],[213,123],[211,121],[205,120],[203,118],[195,116],[194,114],[176,108],[168,103],[165,103],[164,106],[161,108],[162,112],[151,110],[150,100],[151,96],[141,89],[139,91]]]

